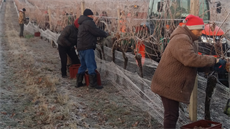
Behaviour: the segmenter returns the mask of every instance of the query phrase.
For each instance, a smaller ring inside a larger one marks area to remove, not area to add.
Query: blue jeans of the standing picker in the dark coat
[[[97,64],[93,49],[79,51],[81,66],[78,69],[78,74],[83,74],[88,69],[89,74],[96,74]]]

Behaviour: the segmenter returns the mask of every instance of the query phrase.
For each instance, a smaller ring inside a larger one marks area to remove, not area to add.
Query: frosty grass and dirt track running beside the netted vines
[[[0,129],[162,128],[106,80],[99,91],[61,78],[57,48],[29,33],[18,37],[12,2],[0,13]]]

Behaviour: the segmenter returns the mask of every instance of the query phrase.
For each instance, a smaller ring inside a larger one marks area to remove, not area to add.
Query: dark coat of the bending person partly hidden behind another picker
[[[57,43],[63,47],[73,47],[77,45],[77,35],[78,29],[74,25],[66,26],[58,37]]]

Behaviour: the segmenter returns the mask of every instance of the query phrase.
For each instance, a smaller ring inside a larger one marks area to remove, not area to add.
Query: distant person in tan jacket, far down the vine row
[[[18,22],[19,22],[19,26],[20,26],[20,33],[19,33],[20,38],[23,37],[24,24],[25,24],[25,21],[26,21],[25,12],[26,12],[25,8],[19,10]]]

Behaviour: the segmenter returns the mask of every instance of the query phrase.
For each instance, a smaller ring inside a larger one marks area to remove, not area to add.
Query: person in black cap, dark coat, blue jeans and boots
[[[96,27],[93,21],[93,12],[90,9],[85,9],[83,15],[80,16],[78,23],[79,33],[77,50],[80,56],[81,66],[78,69],[76,87],[83,86],[82,80],[85,71],[88,69],[90,87],[102,89],[103,86],[97,85],[97,64],[95,61],[94,50],[96,48],[97,37],[107,37],[108,33]]]

